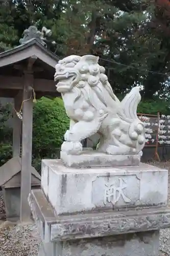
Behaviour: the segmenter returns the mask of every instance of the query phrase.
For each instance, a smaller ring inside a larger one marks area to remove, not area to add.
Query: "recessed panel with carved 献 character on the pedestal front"
[[[140,179],[136,175],[98,176],[92,182],[91,202],[95,207],[138,205]]]

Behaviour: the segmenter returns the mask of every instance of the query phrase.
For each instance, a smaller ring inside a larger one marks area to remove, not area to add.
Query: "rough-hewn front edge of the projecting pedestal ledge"
[[[126,215],[127,212],[122,211],[120,215],[97,215],[80,216],[82,219],[77,219],[76,216],[66,219],[65,222],[60,220],[51,226],[51,240],[71,240],[81,238],[93,238],[117,235],[121,233],[142,232],[149,230],[158,230],[170,226],[170,211],[135,212],[131,215]],[[138,215],[136,215],[136,213]],[[145,214],[145,215],[144,215]],[[74,219],[75,218],[75,219]]]

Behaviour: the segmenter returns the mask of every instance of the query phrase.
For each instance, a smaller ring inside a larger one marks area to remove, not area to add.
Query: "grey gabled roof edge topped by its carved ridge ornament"
[[[0,53],[0,68],[34,55],[48,66],[55,68],[59,57],[46,47],[46,43],[51,42],[46,37],[51,35],[52,31],[50,29],[43,27],[40,32],[35,26],[30,26],[23,32],[23,38],[19,40],[20,45]],[[51,43],[56,44],[55,41]]]

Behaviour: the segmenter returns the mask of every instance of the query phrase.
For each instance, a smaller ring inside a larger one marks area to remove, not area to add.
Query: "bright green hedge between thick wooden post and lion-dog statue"
[[[42,97],[33,109],[33,164],[39,169],[42,158],[57,158],[69,127],[69,119],[60,98]]]

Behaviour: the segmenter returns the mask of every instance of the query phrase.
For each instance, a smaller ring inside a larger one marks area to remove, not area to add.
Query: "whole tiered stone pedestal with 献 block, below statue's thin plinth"
[[[69,168],[42,160],[29,203],[39,256],[158,256],[170,226],[167,170],[139,166]]]

